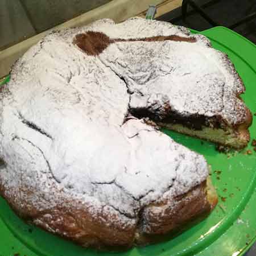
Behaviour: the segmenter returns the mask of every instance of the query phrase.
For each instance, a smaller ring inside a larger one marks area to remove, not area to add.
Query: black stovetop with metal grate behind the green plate
[[[193,0],[193,2],[217,24],[210,24],[199,11],[189,4],[185,19],[182,16],[181,7],[162,15],[159,19],[199,31],[213,26],[230,27],[256,43],[256,0]],[[236,24],[240,21],[240,24]]]

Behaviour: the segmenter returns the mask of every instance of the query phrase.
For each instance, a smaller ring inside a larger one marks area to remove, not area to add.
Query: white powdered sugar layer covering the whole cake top
[[[211,116],[222,113],[224,86],[232,92],[237,86],[222,53],[201,36],[197,43],[119,42],[88,56],[72,40],[91,30],[124,39],[189,36],[185,28],[138,18],[46,36],[17,61],[2,92],[0,158],[6,166],[0,181],[6,193],[18,195],[16,204],[43,210],[81,200],[95,216],[104,209],[133,224],[144,205],[189,191],[208,169],[203,156],[143,120],[126,119],[129,108],[151,104],[160,111],[171,102],[177,112]],[[35,192],[28,197],[22,187]]]

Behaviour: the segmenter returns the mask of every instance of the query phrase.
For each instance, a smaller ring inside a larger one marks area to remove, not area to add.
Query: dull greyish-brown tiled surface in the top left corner
[[[1,0],[0,49],[39,34],[110,0]]]

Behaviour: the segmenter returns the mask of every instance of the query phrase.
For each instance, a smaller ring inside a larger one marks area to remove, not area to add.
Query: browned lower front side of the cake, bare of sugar
[[[20,190],[22,193],[31,193],[26,191],[26,188]],[[106,216],[104,212],[95,221],[95,216],[81,205],[73,208],[57,205],[40,211],[23,202],[21,207],[21,203],[17,204],[15,199],[9,196],[10,193],[6,193],[2,184],[0,194],[24,221],[78,245],[113,251],[170,240],[184,229],[203,220],[218,203],[217,193],[208,176],[207,180],[184,195],[147,205],[139,213],[137,224],[122,226],[118,225],[118,222],[113,224],[111,219],[115,216]],[[81,202],[73,203],[76,205]],[[109,225],[101,222],[100,218],[104,218],[106,222],[109,219]]]

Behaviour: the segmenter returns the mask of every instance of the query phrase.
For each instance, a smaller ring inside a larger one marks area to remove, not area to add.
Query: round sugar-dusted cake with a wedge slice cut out
[[[100,249],[146,245],[217,204],[204,156],[159,127],[241,148],[245,90],[179,26],[102,19],[31,47],[0,93],[0,193],[24,220]]]

